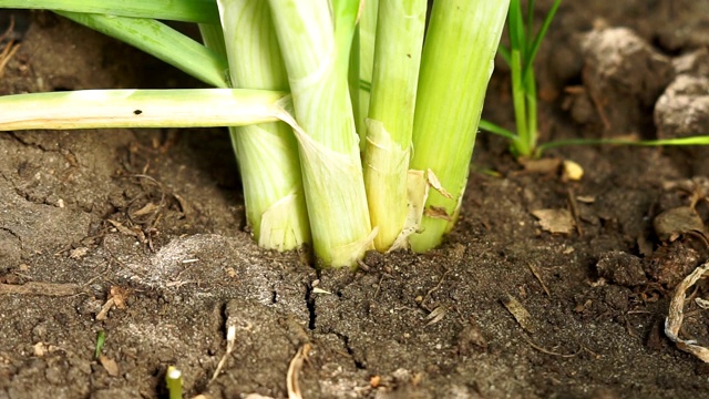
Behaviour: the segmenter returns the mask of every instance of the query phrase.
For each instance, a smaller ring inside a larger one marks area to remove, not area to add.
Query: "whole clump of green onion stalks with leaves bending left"
[[[323,267],[372,248],[424,252],[460,212],[508,6],[0,0],[53,10],[214,88],[6,95],[0,130],[227,126],[259,245],[311,245]],[[203,42],[162,20],[197,23]]]

